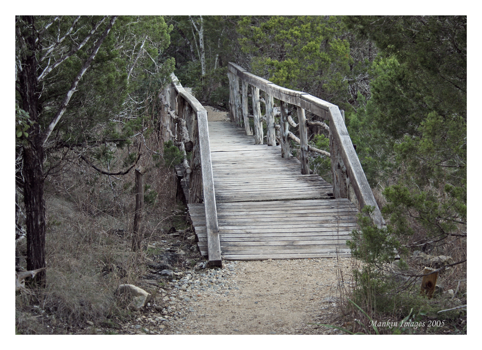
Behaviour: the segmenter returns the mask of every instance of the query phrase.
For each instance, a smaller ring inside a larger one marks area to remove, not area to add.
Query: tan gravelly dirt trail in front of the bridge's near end
[[[182,334],[331,334],[337,271],[350,258],[239,262],[229,296],[210,294],[192,305]]]

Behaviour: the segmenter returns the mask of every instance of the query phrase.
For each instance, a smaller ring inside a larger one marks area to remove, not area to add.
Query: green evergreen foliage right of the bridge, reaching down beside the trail
[[[368,181],[384,189],[388,223],[382,233],[363,217],[353,233],[352,251],[364,264],[356,274],[356,294],[362,296],[357,301],[393,315],[401,307],[397,298],[411,305],[421,301],[387,284],[384,264],[391,260],[378,253],[382,247],[405,247],[399,249],[402,259],[410,247],[466,259],[466,17],[345,21],[379,50],[368,71],[370,96],[358,94],[349,132]],[[465,265],[459,271],[464,278]]]

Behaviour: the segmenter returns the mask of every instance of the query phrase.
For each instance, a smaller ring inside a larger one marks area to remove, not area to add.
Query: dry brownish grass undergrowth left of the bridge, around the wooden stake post
[[[123,176],[102,175],[74,157],[61,172],[48,176],[47,287],[36,289],[27,282],[31,294],[16,293],[17,334],[84,334],[86,323],[109,326],[133,317],[131,310],[118,304],[114,291],[119,284],[139,284],[148,271],[149,257],[169,244],[169,229],[185,230],[189,225],[185,207],[177,201],[174,168],[166,163],[176,162],[175,158],[166,157],[164,162],[155,134],[145,141],[137,163],[147,169],[140,251],[131,249],[133,170]],[[112,151],[112,164],[130,154],[129,147]],[[24,267],[25,240],[16,244],[16,252],[18,265]]]

